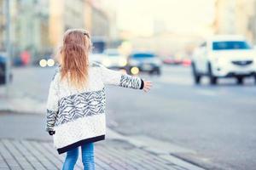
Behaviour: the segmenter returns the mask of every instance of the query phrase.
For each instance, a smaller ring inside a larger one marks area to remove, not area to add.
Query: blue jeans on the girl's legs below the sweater
[[[95,170],[94,163],[94,144],[84,144],[81,146],[82,149],[82,161],[84,170]],[[77,160],[79,158],[79,148],[67,151],[66,160],[63,164],[62,170],[73,170]]]

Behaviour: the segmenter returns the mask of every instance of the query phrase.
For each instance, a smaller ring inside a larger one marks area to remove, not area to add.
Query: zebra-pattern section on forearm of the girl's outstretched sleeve
[[[129,75],[122,75],[119,86],[124,88],[141,88],[142,80],[138,77],[131,77]]]

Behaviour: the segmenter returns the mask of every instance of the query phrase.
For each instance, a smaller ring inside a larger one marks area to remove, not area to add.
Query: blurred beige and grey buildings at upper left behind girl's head
[[[0,50],[5,42],[5,5],[0,1]],[[69,28],[85,28],[92,36],[112,41],[118,37],[116,0],[11,0],[10,32],[14,58],[49,54]]]

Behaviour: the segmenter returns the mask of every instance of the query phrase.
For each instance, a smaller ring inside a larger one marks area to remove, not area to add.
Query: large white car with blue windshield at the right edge
[[[244,37],[214,36],[201,43],[192,57],[195,83],[207,76],[211,84],[220,77],[236,77],[241,84],[244,77],[254,77],[256,82],[256,51]]]

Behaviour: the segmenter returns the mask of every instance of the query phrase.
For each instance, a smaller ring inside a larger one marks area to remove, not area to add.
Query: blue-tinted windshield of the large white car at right
[[[250,46],[244,41],[213,42],[213,50],[249,49]]]

